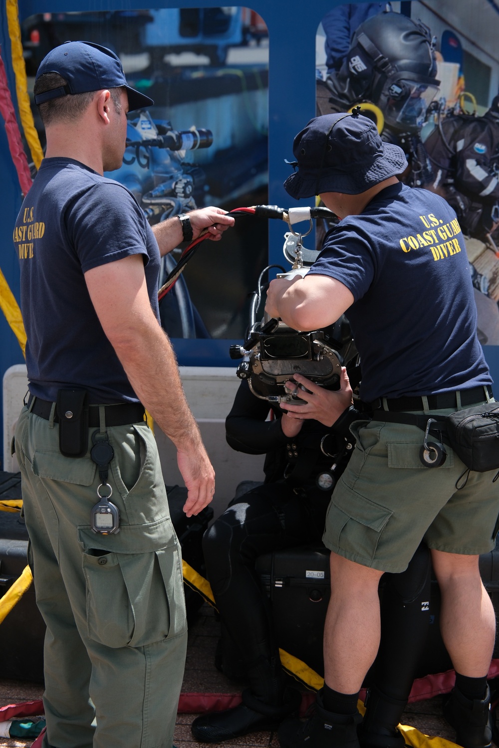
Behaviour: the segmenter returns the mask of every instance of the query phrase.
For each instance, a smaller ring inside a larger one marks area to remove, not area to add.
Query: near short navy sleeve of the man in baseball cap
[[[82,272],[132,254],[142,254],[147,265],[144,212],[120,184],[92,186],[67,207],[64,220]]]

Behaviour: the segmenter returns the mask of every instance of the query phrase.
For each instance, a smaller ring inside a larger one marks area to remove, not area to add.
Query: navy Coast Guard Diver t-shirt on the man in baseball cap
[[[159,249],[133,195],[73,159],[43,159],[13,241],[31,393],[55,400],[60,388],[82,387],[92,403],[137,402],[84,278],[91,268],[142,254],[159,319]]]

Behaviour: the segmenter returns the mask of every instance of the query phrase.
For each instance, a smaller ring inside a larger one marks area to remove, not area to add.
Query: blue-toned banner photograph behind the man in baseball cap
[[[154,101],[128,117],[123,165],[106,177],[134,194],[150,224],[196,207],[268,202],[269,36],[247,7],[39,13],[21,20],[28,88],[43,57],[64,41],[106,46],[126,79]],[[251,221],[251,218],[249,218]],[[185,246],[183,247],[185,248]],[[160,286],[183,248],[162,260]],[[160,301],[172,338],[244,337],[248,295],[267,264],[266,221],[236,221],[203,242]]]

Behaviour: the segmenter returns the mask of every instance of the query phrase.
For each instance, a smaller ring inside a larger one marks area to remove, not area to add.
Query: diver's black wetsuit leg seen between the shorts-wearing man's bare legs
[[[397,730],[429,627],[431,561],[424,543],[401,574],[385,574],[381,641],[358,729],[361,748],[403,748]]]

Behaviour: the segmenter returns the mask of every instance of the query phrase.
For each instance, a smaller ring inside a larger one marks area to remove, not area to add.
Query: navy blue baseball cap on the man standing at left
[[[40,63],[37,79],[44,73],[58,73],[67,80],[66,86],[38,93],[37,105],[49,99],[58,99],[68,93],[87,93],[102,88],[124,86],[128,94],[129,111],[152,105],[153,99],[126,85],[120,58],[111,49],[93,42],[65,42],[52,49]]]

